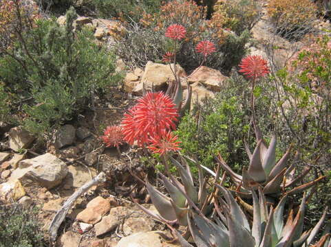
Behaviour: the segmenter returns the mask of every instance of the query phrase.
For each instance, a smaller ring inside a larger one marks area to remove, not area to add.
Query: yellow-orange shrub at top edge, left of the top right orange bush
[[[215,3],[213,19],[224,28],[242,34],[251,30],[261,16],[261,3],[255,0],[219,0]]]

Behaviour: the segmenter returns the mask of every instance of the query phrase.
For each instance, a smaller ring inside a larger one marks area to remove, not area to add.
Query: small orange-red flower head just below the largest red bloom
[[[149,141],[151,145],[147,148],[151,150],[154,154],[167,154],[169,151],[180,150],[178,144],[180,141],[177,141],[177,136],[174,136],[171,131],[162,130],[160,135],[150,137]]]

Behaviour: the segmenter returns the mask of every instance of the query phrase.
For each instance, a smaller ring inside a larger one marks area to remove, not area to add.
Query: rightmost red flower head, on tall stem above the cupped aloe
[[[246,56],[239,64],[239,72],[253,80],[270,73],[268,62],[261,56]]]

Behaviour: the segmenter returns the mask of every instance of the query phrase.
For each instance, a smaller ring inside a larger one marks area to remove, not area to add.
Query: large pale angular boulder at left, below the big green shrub
[[[53,154],[43,154],[36,158],[19,162],[19,168],[15,169],[10,180],[19,179],[24,185],[32,182],[51,189],[59,185],[67,176],[67,165]]]

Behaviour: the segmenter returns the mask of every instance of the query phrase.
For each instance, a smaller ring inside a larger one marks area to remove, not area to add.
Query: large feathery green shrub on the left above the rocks
[[[7,93],[23,97],[18,115],[25,127],[42,136],[89,107],[94,94],[120,79],[115,56],[98,47],[90,30],[74,32],[73,9],[65,26],[36,21],[0,58],[0,78]]]

